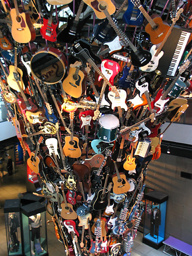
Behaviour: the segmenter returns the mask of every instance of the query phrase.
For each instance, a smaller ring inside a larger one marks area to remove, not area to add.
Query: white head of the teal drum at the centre
[[[103,115],[99,118],[99,125],[105,129],[111,130],[119,126],[119,119],[111,114]]]

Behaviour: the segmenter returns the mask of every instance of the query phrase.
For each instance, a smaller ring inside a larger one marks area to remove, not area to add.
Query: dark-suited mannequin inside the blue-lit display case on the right
[[[161,224],[161,212],[159,209],[159,204],[153,203],[154,208],[151,212],[151,227],[150,227],[150,235],[154,237],[158,236],[159,225]]]

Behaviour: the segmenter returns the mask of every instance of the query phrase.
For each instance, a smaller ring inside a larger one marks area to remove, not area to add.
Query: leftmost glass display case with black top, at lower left
[[[8,256],[23,255],[20,199],[6,200],[4,204],[4,213]]]

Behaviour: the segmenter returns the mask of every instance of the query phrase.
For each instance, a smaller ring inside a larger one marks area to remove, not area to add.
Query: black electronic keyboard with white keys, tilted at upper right
[[[157,70],[162,73],[161,76],[174,78],[177,67],[183,56],[187,42],[192,30],[174,26],[163,47],[163,56],[159,60]]]

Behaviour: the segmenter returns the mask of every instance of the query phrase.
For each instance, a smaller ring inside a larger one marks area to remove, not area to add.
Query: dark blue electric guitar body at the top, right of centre
[[[143,8],[145,4],[143,5]],[[131,26],[140,26],[143,23],[143,14],[140,12],[140,9],[128,0],[128,8],[124,12],[122,19],[125,23]]]

